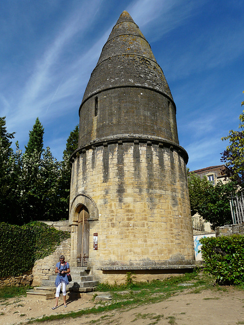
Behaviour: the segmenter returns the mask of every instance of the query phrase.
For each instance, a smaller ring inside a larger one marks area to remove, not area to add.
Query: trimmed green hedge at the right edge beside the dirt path
[[[244,236],[201,238],[204,270],[219,284],[244,282]]]

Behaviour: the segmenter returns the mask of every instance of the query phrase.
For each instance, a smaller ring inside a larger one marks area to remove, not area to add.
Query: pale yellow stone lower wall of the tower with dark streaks
[[[73,161],[70,224],[74,241],[77,196],[82,198],[83,193],[98,209],[97,218],[89,221],[88,265],[95,275],[112,266],[150,269],[191,264],[186,165],[176,149],[157,141],[124,140],[83,150]],[[94,233],[98,233],[98,250],[93,249]]]

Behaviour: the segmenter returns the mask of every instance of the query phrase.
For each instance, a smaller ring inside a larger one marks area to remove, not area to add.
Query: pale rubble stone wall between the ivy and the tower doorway
[[[57,230],[70,231],[69,221],[43,221]],[[65,261],[70,261],[70,238],[64,240],[51,254],[36,261],[33,268],[33,286],[42,284],[42,280],[48,280],[49,275],[54,274],[56,263],[59,261],[59,255],[65,255]]]

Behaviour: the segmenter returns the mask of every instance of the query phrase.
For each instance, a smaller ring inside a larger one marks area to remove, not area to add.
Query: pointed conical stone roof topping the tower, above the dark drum
[[[102,49],[82,104],[90,96],[103,90],[128,86],[150,88],[173,101],[163,71],[149,43],[129,13],[124,11]]]

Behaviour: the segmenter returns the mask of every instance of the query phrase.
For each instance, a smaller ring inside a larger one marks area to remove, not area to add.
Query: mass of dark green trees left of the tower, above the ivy
[[[18,142],[16,151],[11,148],[14,136],[5,124],[5,118],[0,118],[0,222],[22,225],[35,220],[68,219],[69,157],[78,145],[78,126],[67,140],[63,160],[57,161],[50,148],[43,149],[44,128],[39,119],[29,133],[25,153]]]

